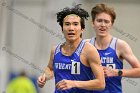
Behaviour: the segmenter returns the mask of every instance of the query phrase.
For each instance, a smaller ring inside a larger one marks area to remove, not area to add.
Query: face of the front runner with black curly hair
[[[80,35],[83,32],[80,23],[81,18],[77,15],[71,14],[64,18],[63,21],[63,33],[68,41],[74,41],[80,39]]]

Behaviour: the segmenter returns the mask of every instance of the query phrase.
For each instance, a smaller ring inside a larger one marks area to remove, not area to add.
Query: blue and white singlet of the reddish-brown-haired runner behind
[[[96,38],[92,38],[90,43],[95,46]],[[123,69],[123,63],[118,58],[116,54],[116,44],[117,38],[113,37],[110,45],[104,50],[98,50],[100,55],[100,59],[102,62],[102,66],[106,66],[112,69]],[[121,85],[120,76],[115,77],[106,77],[106,87],[103,91],[95,91],[94,93],[122,93],[122,85]]]

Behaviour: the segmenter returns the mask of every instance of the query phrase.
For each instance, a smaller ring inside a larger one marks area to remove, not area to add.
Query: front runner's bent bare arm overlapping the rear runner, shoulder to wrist
[[[77,88],[83,88],[88,90],[104,89],[105,79],[99,54],[95,47],[91,44],[88,44],[86,49],[88,49],[86,54],[89,66],[91,67],[96,78],[94,80],[89,81],[75,81],[75,85]]]

